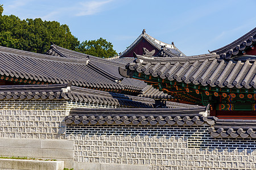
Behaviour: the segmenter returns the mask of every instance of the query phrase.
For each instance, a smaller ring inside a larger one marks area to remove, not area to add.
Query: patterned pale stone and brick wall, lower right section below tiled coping
[[[253,139],[215,139],[203,126],[67,126],[75,162],[148,169],[256,169]],[[86,167],[85,167],[86,168]]]

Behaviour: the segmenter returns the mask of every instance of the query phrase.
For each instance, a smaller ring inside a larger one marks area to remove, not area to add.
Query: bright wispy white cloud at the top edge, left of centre
[[[77,8],[79,9],[79,12],[76,14],[76,16],[93,15],[98,12],[104,11],[104,6],[112,1],[113,0],[81,2],[79,5],[80,7]]]

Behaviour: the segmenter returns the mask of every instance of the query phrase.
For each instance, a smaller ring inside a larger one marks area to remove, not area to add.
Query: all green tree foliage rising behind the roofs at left
[[[45,53],[53,42],[63,48],[97,57],[113,57],[117,54],[111,42],[102,38],[80,44],[66,24],[40,18],[20,20],[15,15],[2,15],[2,12],[3,5],[0,4],[0,46]]]

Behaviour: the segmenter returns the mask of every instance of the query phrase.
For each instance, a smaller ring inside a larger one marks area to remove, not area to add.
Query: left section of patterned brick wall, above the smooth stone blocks
[[[64,117],[71,108],[107,108],[82,102],[57,100],[0,101],[0,137],[65,139]]]

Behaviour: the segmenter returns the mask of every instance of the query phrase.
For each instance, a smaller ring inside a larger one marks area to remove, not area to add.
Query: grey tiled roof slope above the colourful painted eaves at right
[[[177,82],[201,84],[212,87],[256,88],[256,61],[246,59],[221,59],[218,54],[187,57],[144,57],[137,55],[122,76],[132,77],[133,71]]]

